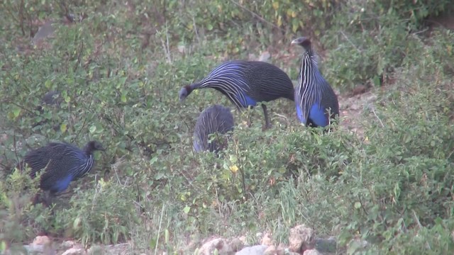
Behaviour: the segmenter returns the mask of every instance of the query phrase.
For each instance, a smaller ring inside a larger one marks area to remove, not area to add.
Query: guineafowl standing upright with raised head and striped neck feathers
[[[292,45],[304,47],[299,72],[299,83],[295,89],[295,104],[301,123],[312,127],[326,127],[331,119],[339,115],[339,103],[336,94],[319,71],[311,40],[297,38]],[[328,111],[331,111],[329,115]]]

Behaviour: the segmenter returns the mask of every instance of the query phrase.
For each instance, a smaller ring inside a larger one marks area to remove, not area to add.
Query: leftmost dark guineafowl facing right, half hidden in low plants
[[[93,166],[93,152],[104,150],[101,143],[90,141],[84,149],[63,142],[50,142],[44,147],[28,152],[18,164],[18,169],[31,171],[31,178],[43,170],[40,178],[40,188],[51,194],[65,191],[70,182],[87,174]]]

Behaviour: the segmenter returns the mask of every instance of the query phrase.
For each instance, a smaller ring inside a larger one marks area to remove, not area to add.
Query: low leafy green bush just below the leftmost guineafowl
[[[55,231],[65,229],[66,234],[82,240],[82,244],[102,242],[116,244],[131,238],[131,229],[138,224],[138,210],[131,206],[135,200],[133,186],[113,185],[112,181],[99,180],[92,189],[74,194],[70,208],[55,215]]]

